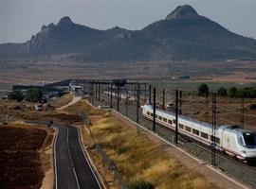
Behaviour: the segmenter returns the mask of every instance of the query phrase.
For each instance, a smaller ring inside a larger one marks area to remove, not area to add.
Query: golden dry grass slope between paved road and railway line
[[[92,115],[91,121],[96,143],[117,163],[123,179],[128,183],[147,180],[154,183],[155,188],[212,187],[206,178],[171,157],[167,146],[153,142],[143,133],[137,135],[136,129],[125,126],[110,113]],[[93,148],[87,129],[83,129],[83,137]],[[95,151],[91,153],[99,166],[101,159]]]

